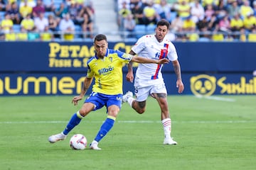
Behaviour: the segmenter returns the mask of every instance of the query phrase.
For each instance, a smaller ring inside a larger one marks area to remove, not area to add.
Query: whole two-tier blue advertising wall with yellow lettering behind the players
[[[129,52],[133,43],[110,42]],[[256,43],[174,42],[181,63],[183,94],[256,94]],[[0,42],[0,96],[80,94],[91,42]],[[134,70],[137,64],[134,63]],[[123,68],[124,76],[127,67]],[[169,94],[178,94],[172,64],[163,68]],[[124,92],[133,84],[124,81]],[[89,89],[88,93],[90,93]],[[87,93],[87,94],[88,94]]]

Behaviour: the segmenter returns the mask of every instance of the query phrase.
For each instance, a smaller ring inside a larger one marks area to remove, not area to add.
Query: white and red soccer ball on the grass
[[[87,139],[84,135],[76,134],[70,138],[70,147],[72,149],[82,150],[82,149],[85,149],[86,146],[87,146]]]

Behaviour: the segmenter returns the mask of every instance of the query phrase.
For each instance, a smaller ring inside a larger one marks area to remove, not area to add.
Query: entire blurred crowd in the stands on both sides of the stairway
[[[164,18],[171,23],[170,40],[256,42],[256,0],[113,1],[123,38],[154,33]],[[92,2],[0,0],[0,40],[92,40]]]

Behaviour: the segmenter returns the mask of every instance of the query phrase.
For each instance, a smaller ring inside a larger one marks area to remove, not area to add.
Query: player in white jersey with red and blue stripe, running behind
[[[178,93],[181,94],[184,89],[181,80],[181,67],[178,62],[176,47],[170,42],[165,35],[169,30],[169,22],[161,20],[156,24],[155,35],[144,35],[136,42],[129,52],[131,55],[139,55],[148,59],[168,58],[176,73],[176,86]],[[142,114],[146,111],[146,98],[149,95],[156,98],[161,108],[161,123],[164,128],[164,145],[176,145],[177,142],[171,137],[171,117],[167,102],[167,91],[164,79],[161,74],[162,64],[139,64],[135,79],[132,72],[132,62],[128,64],[127,81],[134,79],[134,93],[128,91],[123,96],[123,102],[129,103],[137,113]]]

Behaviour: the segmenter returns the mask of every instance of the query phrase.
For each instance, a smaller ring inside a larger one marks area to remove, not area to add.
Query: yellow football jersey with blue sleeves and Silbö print
[[[107,49],[103,59],[97,56],[87,62],[87,77],[95,77],[92,91],[116,95],[123,94],[122,91],[122,67],[132,60],[133,55],[119,50]]]

